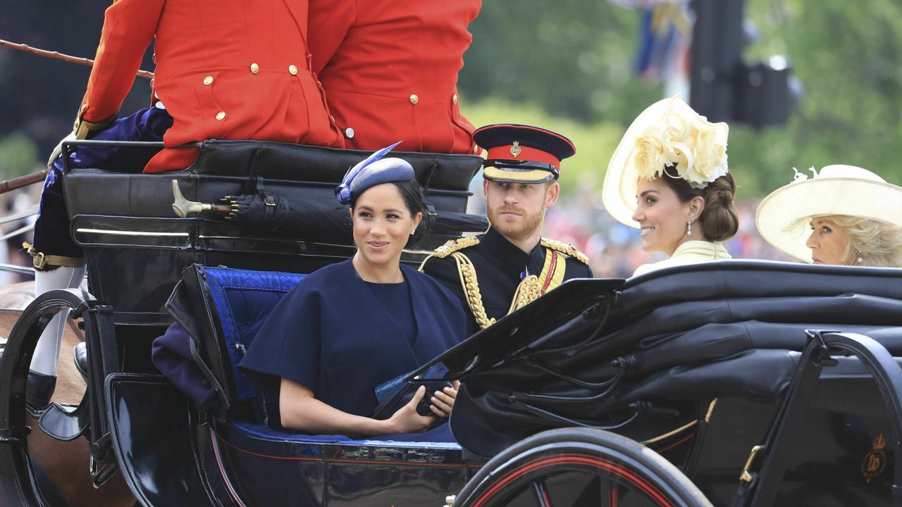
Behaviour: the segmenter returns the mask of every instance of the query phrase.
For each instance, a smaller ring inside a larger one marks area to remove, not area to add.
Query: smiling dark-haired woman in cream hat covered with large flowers
[[[642,249],[668,266],[730,259],[721,242],[736,234],[736,184],[727,169],[727,124],[713,124],[677,97],[643,111],[623,135],[604,177],[612,217],[641,230]]]

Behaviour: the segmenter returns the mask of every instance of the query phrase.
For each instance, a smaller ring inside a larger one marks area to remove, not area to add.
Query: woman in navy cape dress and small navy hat
[[[391,148],[389,148],[391,149]],[[376,152],[336,189],[350,205],[357,253],[309,274],[281,299],[240,367],[278,382],[281,423],[306,433],[419,432],[446,417],[455,388],[425,392],[389,419],[373,419],[375,388],[465,338],[464,311],[437,281],[400,264],[423,217],[410,164]],[[434,415],[421,416],[425,396]]]

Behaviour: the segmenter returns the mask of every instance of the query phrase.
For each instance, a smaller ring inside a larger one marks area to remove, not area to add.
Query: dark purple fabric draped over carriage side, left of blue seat
[[[216,399],[216,391],[191,358],[190,341],[191,336],[176,322],[153,340],[151,359],[171,383],[205,408]]]

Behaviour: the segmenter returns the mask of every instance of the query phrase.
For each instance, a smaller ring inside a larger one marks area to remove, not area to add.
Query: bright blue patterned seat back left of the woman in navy
[[[257,386],[238,370],[238,363],[276,303],[306,275],[231,268],[205,268],[204,272],[226,340],[238,399],[251,400],[259,395]]]

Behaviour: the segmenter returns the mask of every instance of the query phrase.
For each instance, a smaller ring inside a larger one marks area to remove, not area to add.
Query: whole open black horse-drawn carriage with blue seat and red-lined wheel
[[[353,253],[332,189],[363,156],[207,142],[189,171],[70,171],[91,294],[41,296],[9,336],[0,505],[53,504],[29,431],[87,438],[95,484],[121,472],[148,506],[900,502],[899,270],[732,262],[569,281],[417,373],[462,380],[459,444],[278,429],[272,393],[235,364],[304,273]],[[437,216],[465,211],[481,159],[400,156]],[[177,217],[173,179],[198,202],[265,189],[300,219]],[[419,235],[402,261],[463,232]],[[86,396],[51,404],[29,429],[25,376],[59,311],[87,340]],[[173,318],[216,392],[203,410],[150,362]]]

